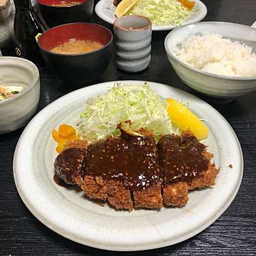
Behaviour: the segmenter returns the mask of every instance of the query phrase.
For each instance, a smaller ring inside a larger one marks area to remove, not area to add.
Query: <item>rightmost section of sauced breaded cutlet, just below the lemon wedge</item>
[[[157,149],[164,204],[181,207],[188,202],[188,190],[215,184],[218,169],[211,163],[214,155],[191,133],[163,136]]]

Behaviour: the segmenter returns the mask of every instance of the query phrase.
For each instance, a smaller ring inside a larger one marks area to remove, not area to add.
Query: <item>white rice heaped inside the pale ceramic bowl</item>
[[[252,47],[231,42],[219,34],[189,36],[174,54],[201,71],[233,77],[256,76],[256,55]]]

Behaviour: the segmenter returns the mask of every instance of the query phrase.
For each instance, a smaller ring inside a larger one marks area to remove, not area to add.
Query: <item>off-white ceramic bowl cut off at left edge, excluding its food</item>
[[[40,97],[38,68],[19,57],[0,57],[0,85],[24,87],[10,99],[0,101],[1,134],[22,127],[36,112]]]

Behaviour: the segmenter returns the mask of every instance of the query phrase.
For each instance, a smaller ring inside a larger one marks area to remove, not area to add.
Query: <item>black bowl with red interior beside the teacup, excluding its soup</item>
[[[79,54],[51,52],[53,47],[71,40],[93,40],[101,42],[103,47]],[[93,23],[70,23],[53,27],[45,31],[38,40],[44,62],[57,77],[71,84],[98,79],[110,63],[112,44],[112,32]]]

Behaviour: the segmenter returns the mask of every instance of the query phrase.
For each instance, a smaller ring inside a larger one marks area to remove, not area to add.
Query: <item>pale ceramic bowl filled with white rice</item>
[[[256,29],[246,25],[201,22],[171,31],[164,46],[181,80],[218,99],[256,90]]]

